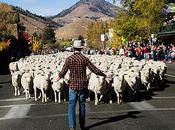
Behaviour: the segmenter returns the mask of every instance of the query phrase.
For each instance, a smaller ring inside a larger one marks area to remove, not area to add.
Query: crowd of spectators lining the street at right
[[[143,43],[128,43],[123,45],[119,49],[119,55],[125,55],[128,57],[136,57],[136,59],[153,59],[154,61],[175,61],[175,45],[164,45],[164,44],[143,44]]]

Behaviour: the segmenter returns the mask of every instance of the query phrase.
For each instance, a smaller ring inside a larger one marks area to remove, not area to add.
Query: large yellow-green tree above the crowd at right
[[[149,38],[163,22],[164,0],[125,0],[128,4],[115,18],[115,32],[129,39]]]

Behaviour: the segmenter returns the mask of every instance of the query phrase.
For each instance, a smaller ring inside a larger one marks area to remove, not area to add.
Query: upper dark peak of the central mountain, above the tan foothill
[[[63,25],[74,22],[79,18],[92,20],[107,20],[116,16],[118,7],[105,0],[80,0],[72,7],[50,17],[55,22]]]

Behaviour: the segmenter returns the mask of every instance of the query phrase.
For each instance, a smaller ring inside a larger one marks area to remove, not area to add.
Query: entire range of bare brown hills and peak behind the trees
[[[35,31],[42,33],[49,24],[55,29],[58,39],[85,36],[89,23],[96,20],[111,20],[119,9],[105,0],[80,0],[61,13],[46,18],[17,6],[12,7],[15,12],[19,13],[20,22],[26,27],[29,34],[33,34]]]

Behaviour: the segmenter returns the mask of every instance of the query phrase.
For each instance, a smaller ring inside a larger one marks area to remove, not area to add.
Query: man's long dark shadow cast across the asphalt
[[[99,120],[103,120],[103,121],[89,125],[86,127],[86,129],[89,130],[90,128],[93,128],[93,127],[97,127],[97,126],[107,124],[107,123],[117,122],[120,120],[124,120],[126,118],[141,118],[143,116],[136,116],[136,114],[140,114],[140,113],[141,112],[139,112],[139,111],[133,111],[133,112],[128,112],[128,114],[126,114],[126,115],[120,115],[120,116],[113,116],[113,117],[107,117],[107,118],[89,118],[91,120],[99,119]]]

